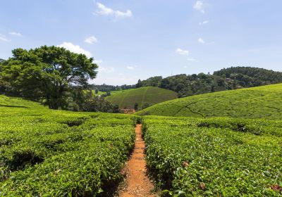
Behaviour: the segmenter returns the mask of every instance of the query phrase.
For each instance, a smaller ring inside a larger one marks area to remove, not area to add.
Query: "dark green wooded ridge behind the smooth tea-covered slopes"
[[[266,84],[282,82],[282,72],[252,67],[231,67],[210,74],[175,75],[162,78],[150,77],[138,80],[136,87],[161,87],[171,89],[179,97],[205,94],[214,91],[239,89],[243,87],[257,87]]]

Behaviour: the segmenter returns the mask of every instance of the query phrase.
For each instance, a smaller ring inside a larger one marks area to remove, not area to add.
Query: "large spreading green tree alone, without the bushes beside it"
[[[18,96],[45,101],[49,108],[63,108],[71,87],[85,87],[97,75],[93,58],[56,46],[14,49],[1,63],[0,77]]]

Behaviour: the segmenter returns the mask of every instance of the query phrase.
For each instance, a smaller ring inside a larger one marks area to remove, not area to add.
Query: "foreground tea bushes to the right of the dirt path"
[[[282,121],[143,120],[147,166],[175,196],[281,196]]]

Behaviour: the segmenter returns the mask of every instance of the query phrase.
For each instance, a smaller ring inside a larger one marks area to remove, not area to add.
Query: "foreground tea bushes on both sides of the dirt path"
[[[281,120],[74,113],[7,96],[0,196],[111,196],[137,121],[164,196],[282,196]]]

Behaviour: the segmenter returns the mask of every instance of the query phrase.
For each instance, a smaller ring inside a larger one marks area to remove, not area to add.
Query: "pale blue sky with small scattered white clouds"
[[[281,0],[1,0],[0,58],[62,46],[93,57],[94,84],[231,66],[282,71]]]

